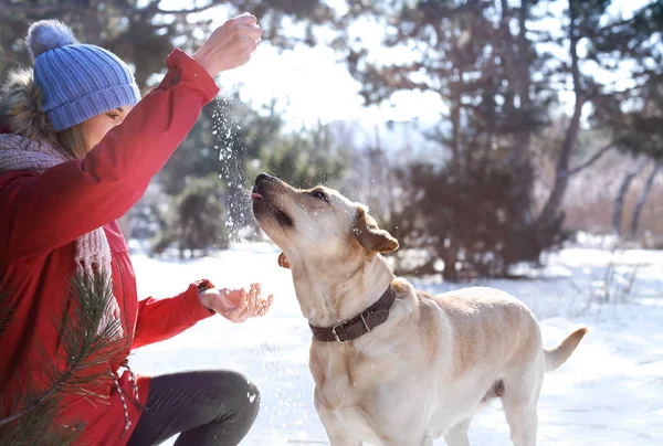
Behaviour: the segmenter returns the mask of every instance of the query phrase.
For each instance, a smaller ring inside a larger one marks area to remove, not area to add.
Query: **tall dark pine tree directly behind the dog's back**
[[[350,15],[385,23],[386,46],[408,49],[408,61],[379,64],[345,36],[348,66],[362,83],[366,102],[421,91],[449,109],[429,135],[440,147],[438,158],[401,169],[408,210],[396,212],[389,225],[402,233],[414,224],[403,233],[404,246],[428,244],[429,266],[442,258],[451,280],[506,275],[515,262],[536,262],[561,236],[560,219],[537,226],[533,216],[529,146],[548,124],[554,99],[546,79],[535,76],[548,63],[528,33],[538,20],[537,2],[518,8],[482,0],[351,3]],[[524,240],[529,243],[519,243]],[[433,272],[425,269],[418,272]]]

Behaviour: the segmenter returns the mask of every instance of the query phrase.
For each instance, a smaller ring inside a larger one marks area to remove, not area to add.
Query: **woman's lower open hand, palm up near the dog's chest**
[[[261,296],[260,284],[252,284],[249,293],[244,288],[210,288],[200,294],[200,302],[203,306],[235,323],[264,316],[272,306],[273,299],[273,295],[267,298]]]

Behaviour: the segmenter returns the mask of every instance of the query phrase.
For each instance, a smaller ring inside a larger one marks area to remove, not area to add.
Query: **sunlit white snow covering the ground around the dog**
[[[242,371],[262,393],[261,413],[242,445],[327,445],[313,407],[311,333],[290,273],[276,265],[277,253],[273,245],[243,244],[190,262],[134,255],[140,296],[175,295],[208,277],[224,287],[261,282],[275,301],[262,319],[232,325],[214,317],[138,349],[131,364],[152,374],[196,368]],[[570,360],[546,375],[538,444],[663,444],[663,252],[575,247],[550,255],[547,265],[528,280],[480,283],[523,299],[539,319],[546,346],[581,325],[591,329]],[[460,286],[414,284],[433,293]],[[624,301],[596,304],[607,295]],[[474,418],[470,438],[472,445],[511,445],[497,402]]]

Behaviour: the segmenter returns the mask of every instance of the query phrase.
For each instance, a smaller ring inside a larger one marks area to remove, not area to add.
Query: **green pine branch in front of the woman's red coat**
[[[14,323],[13,311],[7,307],[11,293],[9,284],[0,294],[0,342],[7,327]],[[33,389],[27,381],[24,393],[12,400],[10,412],[0,412],[0,446],[73,444],[83,427],[76,421],[72,421],[71,426],[54,423],[63,396],[81,394],[87,399],[103,397],[87,391],[81,393],[81,389],[107,380],[107,372],[91,370],[110,361],[126,348],[127,338],[119,336],[119,321],[112,320],[101,327],[102,317],[110,299],[114,299],[110,279],[98,273],[93,277],[75,275],[71,280],[70,299],[72,312],[54,321],[62,333],[65,352],[59,358],[62,363],[53,363],[44,357],[39,361],[43,364],[39,371],[29,371],[29,375],[43,373],[50,385]],[[40,346],[34,348],[38,351],[35,354],[45,354]],[[0,405],[0,411],[4,406]]]

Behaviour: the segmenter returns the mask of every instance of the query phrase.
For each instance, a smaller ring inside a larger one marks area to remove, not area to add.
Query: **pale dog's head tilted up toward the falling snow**
[[[262,173],[251,198],[255,221],[285,253],[281,266],[288,267],[291,256],[332,266],[398,248],[398,241],[378,227],[364,205],[333,189],[295,189]]]

